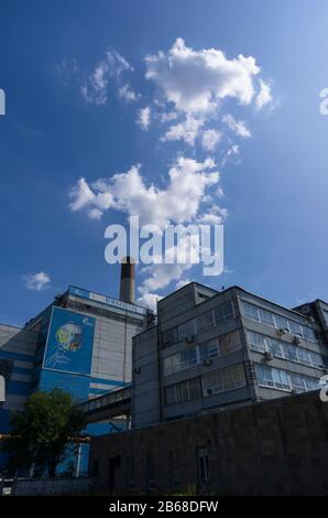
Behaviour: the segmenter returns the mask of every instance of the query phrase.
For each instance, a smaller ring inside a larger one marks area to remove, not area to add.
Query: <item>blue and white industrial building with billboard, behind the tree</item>
[[[24,327],[0,325],[0,375],[7,381],[0,434],[10,431],[10,411],[21,410],[34,390],[62,388],[85,401],[130,385],[132,337],[147,321],[144,307],[70,285]],[[122,420],[105,421],[87,432],[122,425]],[[86,451],[81,471],[87,456]]]

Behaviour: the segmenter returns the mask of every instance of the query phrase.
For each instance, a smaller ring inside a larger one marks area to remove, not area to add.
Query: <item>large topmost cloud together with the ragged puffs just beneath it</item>
[[[205,151],[214,152],[227,130],[216,123],[226,99],[252,104],[256,110],[272,101],[270,85],[251,55],[230,58],[219,48],[194,50],[178,37],[167,52],[146,55],[145,66],[146,79],[156,86],[154,106],[161,109],[154,118],[164,125],[171,117],[175,121],[160,138],[162,142],[194,147],[198,139]],[[245,120],[228,114],[221,122],[239,137],[251,137]]]

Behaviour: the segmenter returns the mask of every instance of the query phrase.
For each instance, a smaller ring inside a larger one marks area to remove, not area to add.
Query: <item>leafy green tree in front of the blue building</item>
[[[3,450],[11,468],[36,465],[55,476],[57,465],[76,449],[74,439],[86,425],[85,414],[64,390],[34,392],[24,410],[11,414],[11,438]]]

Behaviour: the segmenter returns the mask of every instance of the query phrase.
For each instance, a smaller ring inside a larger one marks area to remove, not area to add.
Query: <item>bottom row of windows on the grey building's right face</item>
[[[255,365],[258,385],[296,392],[306,392],[320,388],[319,379],[300,374],[275,369],[265,365]]]

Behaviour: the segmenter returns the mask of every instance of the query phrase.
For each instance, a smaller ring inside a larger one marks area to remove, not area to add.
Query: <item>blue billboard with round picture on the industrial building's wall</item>
[[[92,316],[54,307],[43,367],[90,374],[95,325]]]

